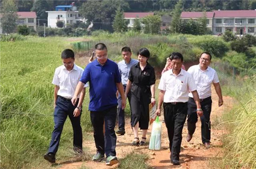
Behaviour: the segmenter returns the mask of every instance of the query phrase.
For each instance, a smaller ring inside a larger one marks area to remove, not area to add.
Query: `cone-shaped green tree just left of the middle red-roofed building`
[[[123,18],[123,12],[120,8],[116,10],[116,16],[113,21],[113,29],[115,32],[125,32],[127,31],[127,23],[126,20]]]

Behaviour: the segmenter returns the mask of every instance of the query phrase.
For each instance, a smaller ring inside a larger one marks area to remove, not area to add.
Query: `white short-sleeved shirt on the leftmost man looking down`
[[[59,86],[57,95],[72,99],[82,73],[83,69],[75,64],[71,71],[68,71],[64,65],[57,67],[52,80],[53,85]],[[88,86],[86,83],[84,88]]]

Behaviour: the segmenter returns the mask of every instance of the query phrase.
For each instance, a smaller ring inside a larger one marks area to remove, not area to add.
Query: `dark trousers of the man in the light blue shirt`
[[[123,89],[124,89],[124,92],[125,92],[125,89],[126,89],[125,85],[123,85]],[[128,98],[130,109],[131,109],[131,92],[130,91],[127,94],[127,98]],[[119,130],[124,130],[124,125],[125,125],[124,110],[122,109],[122,98],[121,98],[120,93],[118,93],[117,102],[118,102],[118,108],[117,108],[118,129]],[[131,110],[131,116],[132,116],[132,110]]]

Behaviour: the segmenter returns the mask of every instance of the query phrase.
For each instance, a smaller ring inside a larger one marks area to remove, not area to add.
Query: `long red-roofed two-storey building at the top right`
[[[206,13],[209,19],[207,27],[214,35],[230,30],[236,35],[256,35],[256,10],[182,12],[181,19],[198,19]]]

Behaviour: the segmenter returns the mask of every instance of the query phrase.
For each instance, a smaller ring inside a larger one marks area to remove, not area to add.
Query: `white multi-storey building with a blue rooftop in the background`
[[[55,11],[46,11],[48,13],[48,27],[57,27],[57,21],[62,21],[64,27],[69,24],[82,22],[83,18],[80,16],[77,8],[72,5],[56,6]]]

